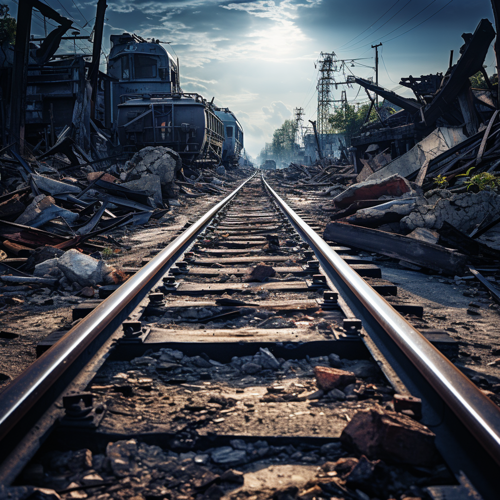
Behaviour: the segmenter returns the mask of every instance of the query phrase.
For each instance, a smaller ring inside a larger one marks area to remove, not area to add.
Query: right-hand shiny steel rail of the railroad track
[[[500,464],[500,408],[408,323],[262,180],[290,221],[334,269],[481,446]]]

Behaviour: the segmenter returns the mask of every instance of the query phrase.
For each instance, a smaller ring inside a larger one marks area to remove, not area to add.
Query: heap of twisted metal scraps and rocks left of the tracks
[[[126,156],[91,160],[65,132],[38,156],[3,150],[0,307],[54,287],[71,295],[90,287],[83,296],[92,296],[92,287],[126,279],[105,263],[104,257],[121,248],[111,250],[118,243],[104,233],[170,214],[171,206],[180,206],[179,189],[185,196],[223,194],[224,183],[238,179],[225,169],[183,170],[180,156],[166,147],[145,147],[127,161]],[[235,175],[246,175],[239,170]]]

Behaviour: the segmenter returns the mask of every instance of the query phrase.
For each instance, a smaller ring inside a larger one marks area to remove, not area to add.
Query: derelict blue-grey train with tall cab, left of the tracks
[[[112,121],[124,150],[165,146],[192,166],[237,161],[243,133],[236,117],[197,93],[183,92],[178,59],[159,40],[129,33],[110,40]]]

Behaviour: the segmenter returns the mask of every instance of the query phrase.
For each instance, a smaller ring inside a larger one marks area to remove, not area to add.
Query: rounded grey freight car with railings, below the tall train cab
[[[124,148],[165,146],[184,164],[215,166],[222,157],[222,121],[197,93],[126,94],[118,104],[116,126]]]

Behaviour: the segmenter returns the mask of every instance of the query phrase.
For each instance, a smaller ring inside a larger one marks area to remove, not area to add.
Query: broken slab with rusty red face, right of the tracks
[[[409,182],[398,174],[380,180],[364,180],[352,184],[333,198],[337,208],[345,208],[358,199],[378,199],[380,196],[401,196],[411,192]]]

